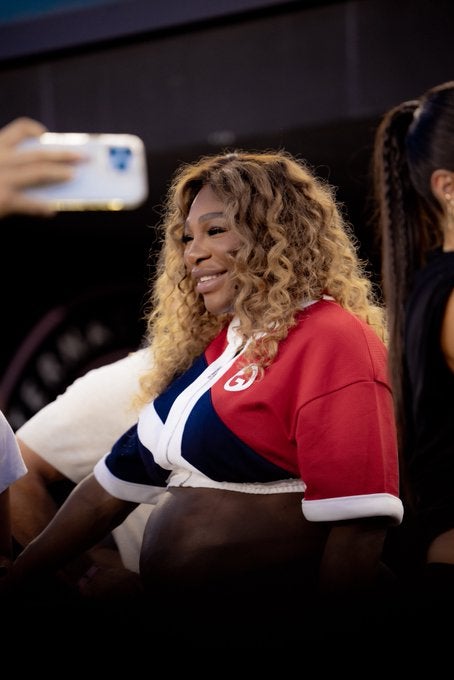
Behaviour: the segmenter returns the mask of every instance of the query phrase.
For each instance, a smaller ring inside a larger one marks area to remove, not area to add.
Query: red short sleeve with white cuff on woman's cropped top
[[[307,519],[386,515],[401,521],[396,430],[386,385],[359,381],[306,404],[297,445]]]

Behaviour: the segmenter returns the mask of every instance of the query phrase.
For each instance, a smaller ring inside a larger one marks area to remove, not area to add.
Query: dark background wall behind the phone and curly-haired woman
[[[158,206],[181,161],[234,147],[305,157],[338,187],[378,279],[373,133],[389,106],[454,77],[453,20],[437,0],[79,0],[0,15],[0,126],[28,115],[56,131],[138,134],[150,181],[132,212],[2,222],[0,406],[12,424],[140,343]]]

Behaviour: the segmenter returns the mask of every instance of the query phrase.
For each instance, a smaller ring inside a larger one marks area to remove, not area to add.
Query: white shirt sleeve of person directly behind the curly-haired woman
[[[16,435],[59,472],[79,482],[137,420],[132,399],[149,365],[141,349],[78,378]]]

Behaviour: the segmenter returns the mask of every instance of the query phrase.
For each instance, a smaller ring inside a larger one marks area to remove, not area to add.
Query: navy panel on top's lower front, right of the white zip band
[[[198,400],[188,418],[182,449],[191,465],[218,482],[274,482],[296,477],[259,456],[231,432],[213,408],[209,392]]]

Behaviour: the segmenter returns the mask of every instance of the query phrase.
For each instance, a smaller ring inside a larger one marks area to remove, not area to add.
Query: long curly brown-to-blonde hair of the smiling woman
[[[241,245],[232,255],[237,296],[232,313],[208,312],[183,262],[183,229],[191,204],[208,185],[225,206]],[[332,187],[285,151],[204,156],[183,164],[170,184],[163,247],[147,316],[153,368],[141,381],[143,401],[188,369],[230,319],[248,346],[245,365],[260,373],[296,323],[305,301],[323,294],[370,324],[385,340],[383,311]]]

